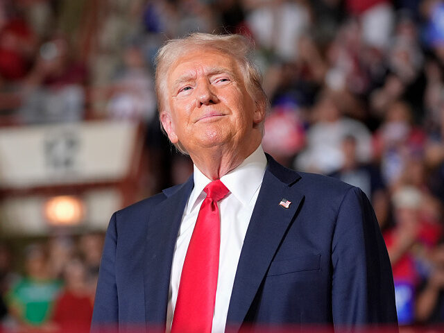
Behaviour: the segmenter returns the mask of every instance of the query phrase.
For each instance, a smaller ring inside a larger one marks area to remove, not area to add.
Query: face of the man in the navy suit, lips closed
[[[236,60],[204,49],[190,51],[167,76],[167,108],[160,119],[173,144],[192,155],[202,148],[247,147],[264,119],[246,90]]]

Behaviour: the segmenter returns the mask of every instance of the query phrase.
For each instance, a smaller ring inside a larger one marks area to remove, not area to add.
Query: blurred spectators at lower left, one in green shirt
[[[0,320],[7,332],[89,332],[102,234],[51,237],[23,253],[0,245]],[[15,263],[22,258],[23,269]]]

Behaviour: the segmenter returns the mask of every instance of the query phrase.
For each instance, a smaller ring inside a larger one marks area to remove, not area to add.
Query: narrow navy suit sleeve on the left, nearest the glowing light
[[[99,281],[97,282],[92,315],[92,331],[94,332],[99,331],[99,328],[111,328],[110,326],[116,325],[119,319],[115,276],[116,244],[117,228],[116,213],[114,213],[105,236]]]

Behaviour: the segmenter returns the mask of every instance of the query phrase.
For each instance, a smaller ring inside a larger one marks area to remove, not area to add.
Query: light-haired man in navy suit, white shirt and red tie
[[[333,178],[286,169],[262,151],[268,101],[249,52],[240,35],[196,33],[157,54],[160,120],[171,143],[190,155],[194,175],[113,214],[93,328],[396,327],[391,265],[368,199]],[[220,212],[220,243],[219,265],[208,273],[217,282],[210,327],[178,326],[176,305],[184,299],[185,317],[201,319],[187,298],[207,297],[201,286],[210,278],[191,268],[184,282],[183,272],[199,241],[207,186],[219,180],[228,194],[212,206]],[[197,291],[187,295],[181,289],[190,279],[187,288]]]

